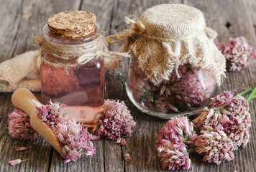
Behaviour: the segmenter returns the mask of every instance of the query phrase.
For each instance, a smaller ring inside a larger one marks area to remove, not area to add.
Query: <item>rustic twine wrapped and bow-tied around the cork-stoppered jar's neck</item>
[[[41,59],[48,65],[54,67],[76,67],[90,62],[93,59],[104,57],[106,67],[116,68],[116,61],[122,57],[130,57],[128,53],[109,52],[107,48],[104,32],[101,32],[95,39],[82,44],[58,44],[46,39],[44,36],[35,37],[35,42],[47,54],[54,59],[49,59],[41,55]]]

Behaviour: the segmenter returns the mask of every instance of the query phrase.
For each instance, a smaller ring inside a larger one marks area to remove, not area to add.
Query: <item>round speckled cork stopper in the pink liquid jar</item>
[[[51,16],[47,25],[58,37],[89,37],[95,33],[96,16],[89,11],[63,11]]]

